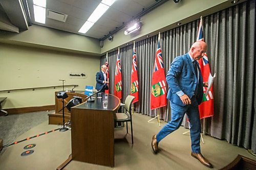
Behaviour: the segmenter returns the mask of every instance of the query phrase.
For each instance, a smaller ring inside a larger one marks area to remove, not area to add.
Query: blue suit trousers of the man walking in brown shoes
[[[201,123],[198,110],[198,104],[195,96],[191,98],[191,104],[184,107],[170,102],[172,109],[172,119],[157,134],[157,142],[160,142],[165,136],[177,130],[183,120],[185,113],[190,123],[191,150],[194,153],[200,153],[200,133]]]

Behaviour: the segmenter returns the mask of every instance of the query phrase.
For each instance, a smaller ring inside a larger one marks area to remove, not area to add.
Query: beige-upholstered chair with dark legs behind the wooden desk
[[[131,135],[132,135],[132,144],[133,144],[133,119],[132,119],[132,103],[135,99],[135,96],[128,95],[124,102],[124,113],[116,113],[115,114],[115,124],[126,122],[126,133],[128,133],[128,124],[131,123]]]

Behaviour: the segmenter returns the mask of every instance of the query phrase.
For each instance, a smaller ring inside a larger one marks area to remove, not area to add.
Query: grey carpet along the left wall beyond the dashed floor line
[[[39,111],[0,116],[0,139],[3,139],[3,145],[14,142],[18,136],[48,120],[48,113],[48,111]],[[0,155],[5,151],[6,148],[0,152]]]

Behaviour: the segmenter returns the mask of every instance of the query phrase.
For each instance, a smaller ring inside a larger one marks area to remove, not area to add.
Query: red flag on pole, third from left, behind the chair
[[[139,83],[138,83],[138,67],[137,56],[135,49],[135,42],[133,44],[133,64],[132,64],[132,76],[131,76],[131,95],[135,96],[133,103],[139,101]]]

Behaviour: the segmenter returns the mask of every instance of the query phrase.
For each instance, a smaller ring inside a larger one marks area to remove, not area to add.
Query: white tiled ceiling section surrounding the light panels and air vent
[[[67,14],[68,17],[66,22],[47,18],[45,25],[34,21],[33,2],[32,0],[27,0],[27,2],[31,12],[31,20],[34,24],[79,35],[102,38],[104,35],[108,35],[110,31],[114,31],[115,28],[121,27],[123,22],[130,21],[133,16],[142,11],[142,8],[148,8],[156,1],[117,0],[86,34],[78,33],[78,30],[101,0],[47,0],[47,9]]]

